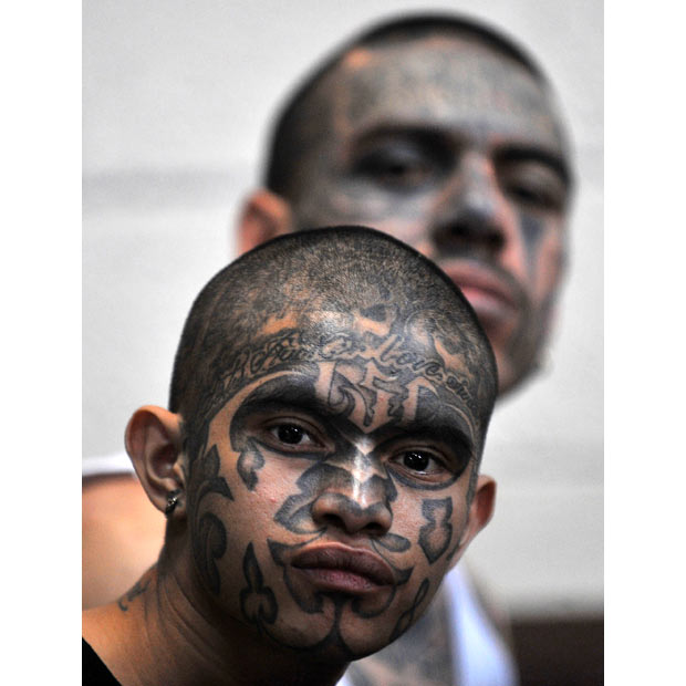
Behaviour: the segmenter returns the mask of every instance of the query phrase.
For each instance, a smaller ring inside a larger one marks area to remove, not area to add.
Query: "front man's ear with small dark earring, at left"
[[[141,407],[128,420],[125,438],[126,451],[153,505],[165,512],[169,497],[176,497],[175,517],[185,513],[180,415],[154,405]]]

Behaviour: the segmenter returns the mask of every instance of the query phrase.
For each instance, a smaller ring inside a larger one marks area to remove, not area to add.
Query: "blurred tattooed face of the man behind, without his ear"
[[[299,228],[371,226],[434,259],[462,289],[506,391],[533,366],[564,256],[564,148],[520,64],[435,37],[345,58],[299,133]]]

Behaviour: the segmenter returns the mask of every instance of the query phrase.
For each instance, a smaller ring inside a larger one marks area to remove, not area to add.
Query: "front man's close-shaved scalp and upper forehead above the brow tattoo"
[[[438,381],[486,430],[496,366],[471,308],[433,262],[360,227],[284,236],[220,271],[186,321],[169,409],[201,441],[208,418],[245,384],[370,349],[399,380]]]

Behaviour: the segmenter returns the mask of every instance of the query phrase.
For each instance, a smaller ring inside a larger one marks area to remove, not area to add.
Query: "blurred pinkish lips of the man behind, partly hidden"
[[[470,261],[440,267],[462,291],[479,319],[500,320],[517,312],[517,289],[490,268]]]

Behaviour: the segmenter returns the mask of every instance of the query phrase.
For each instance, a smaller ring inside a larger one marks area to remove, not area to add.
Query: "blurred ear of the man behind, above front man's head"
[[[261,243],[290,233],[291,206],[281,196],[261,188],[247,198],[238,222],[237,248],[239,254]]]

